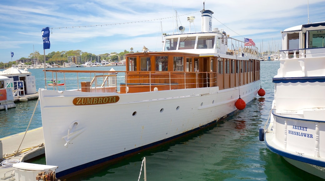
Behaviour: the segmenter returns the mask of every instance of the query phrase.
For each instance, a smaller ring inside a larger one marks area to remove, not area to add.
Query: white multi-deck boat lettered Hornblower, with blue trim
[[[292,165],[325,178],[325,22],[281,32],[270,123],[259,139]]]

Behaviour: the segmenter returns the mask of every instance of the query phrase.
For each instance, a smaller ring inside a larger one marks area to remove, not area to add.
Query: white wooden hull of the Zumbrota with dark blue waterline
[[[259,86],[259,81],[241,86],[241,98],[252,101]],[[120,99],[98,105],[72,103],[87,96]],[[40,89],[39,97],[45,144],[51,143],[45,146],[46,164],[59,166],[57,175],[66,175],[219,120],[237,110],[239,91],[210,87],[118,94]]]

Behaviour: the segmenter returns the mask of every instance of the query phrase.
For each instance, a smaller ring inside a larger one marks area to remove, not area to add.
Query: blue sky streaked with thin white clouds
[[[201,13],[214,12],[212,28],[253,39],[259,51],[281,49],[281,30],[325,21],[324,0],[1,0],[0,62],[44,54],[42,29],[50,28],[45,54],[162,50],[162,33],[201,32]],[[309,8],[308,8],[309,5]],[[309,9],[309,16],[308,16]],[[176,16],[177,15],[177,16]],[[195,16],[193,23],[188,16]],[[309,17],[309,18],[308,18]],[[190,30],[190,31],[189,31]]]

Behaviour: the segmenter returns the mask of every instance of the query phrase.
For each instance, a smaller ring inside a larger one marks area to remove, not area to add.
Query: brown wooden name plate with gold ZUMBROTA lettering
[[[116,103],[120,100],[119,96],[107,96],[107,97],[76,97],[72,103],[74,105],[93,105],[93,104],[108,104]]]

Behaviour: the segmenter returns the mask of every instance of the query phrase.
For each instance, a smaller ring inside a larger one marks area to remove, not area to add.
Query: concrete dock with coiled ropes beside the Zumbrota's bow
[[[0,154],[1,156],[5,154],[4,158],[0,159],[1,162],[9,159],[16,159],[20,160],[20,162],[24,162],[45,154],[43,127],[28,130],[26,135],[25,132],[22,132],[1,138],[0,141]],[[19,152],[15,155],[17,150],[19,150]],[[11,178],[13,170],[12,167],[0,169],[0,179],[14,180]]]

